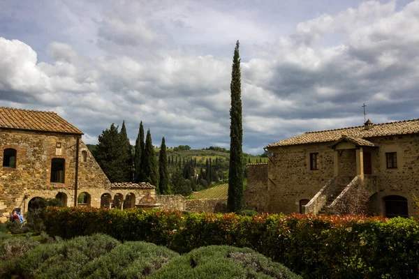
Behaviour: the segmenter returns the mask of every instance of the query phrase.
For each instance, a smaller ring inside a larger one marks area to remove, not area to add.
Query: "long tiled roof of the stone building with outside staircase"
[[[290,137],[287,140],[281,140],[280,142],[275,142],[274,144],[268,144],[265,147],[268,148],[297,144],[335,142],[339,140],[342,135],[358,139],[365,139],[369,137],[385,137],[390,135],[408,135],[416,133],[419,133],[419,119],[374,124],[374,126],[368,130],[365,130],[364,126],[358,126],[335,130],[307,132],[302,135]]]

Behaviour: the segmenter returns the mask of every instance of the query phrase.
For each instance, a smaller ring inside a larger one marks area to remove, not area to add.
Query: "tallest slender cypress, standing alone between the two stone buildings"
[[[230,107],[230,168],[228,171],[227,206],[231,212],[242,210],[243,197],[243,128],[242,128],[242,84],[240,73],[239,41],[237,40],[231,70]]]

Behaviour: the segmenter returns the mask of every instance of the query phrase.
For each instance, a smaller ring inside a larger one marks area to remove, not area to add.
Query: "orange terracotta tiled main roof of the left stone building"
[[[20,110],[12,107],[0,107],[0,128],[83,134],[55,112]]]

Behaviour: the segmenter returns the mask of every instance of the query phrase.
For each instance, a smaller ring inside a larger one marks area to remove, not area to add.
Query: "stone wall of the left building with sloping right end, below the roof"
[[[6,220],[16,207],[22,212],[27,210],[34,197],[53,198],[63,193],[66,205],[74,204],[78,137],[80,135],[0,129],[0,161],[3,162],[4,149],[17,151],[14,168],[0,166],[0,220]],[[82,151],[86,152],[86,162]],[[110,189],[108,178],[81,140],[78,155],[78,193],[84,188]],[[64,183],[50,182],[53,158],[65,160]]]

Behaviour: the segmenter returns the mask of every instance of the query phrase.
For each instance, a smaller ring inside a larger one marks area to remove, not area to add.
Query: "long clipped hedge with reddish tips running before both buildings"
[[[176,252],[249,247],[306,278],[418,276],[419,225],[413,219],[50,208],[45,226],[48,234],[66,239],[101,232]]]

